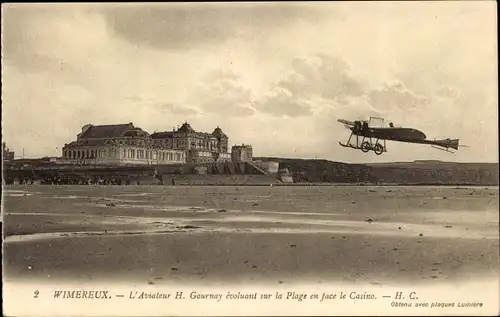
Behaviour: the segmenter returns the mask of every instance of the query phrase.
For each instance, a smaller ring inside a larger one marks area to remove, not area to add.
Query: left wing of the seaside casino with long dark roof
[[[61,163],[81,165],[178,164],[186,161],[184,151],[156,148],[149,133],[132,122],[82,127],[76,141],[65,144]]]

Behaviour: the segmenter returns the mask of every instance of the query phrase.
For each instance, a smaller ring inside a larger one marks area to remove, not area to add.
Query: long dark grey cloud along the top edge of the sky
[[[314,21],[320,10],[298,4],[140,4],[106,6],[101,11],[117,36],[137,45],[189,50],[221,44],[232,37]]]

